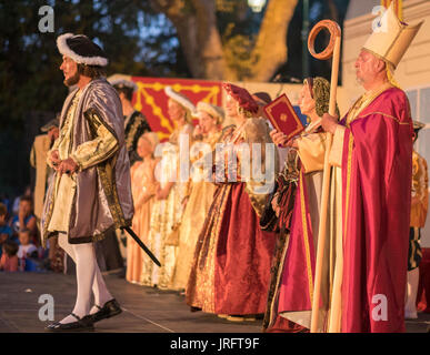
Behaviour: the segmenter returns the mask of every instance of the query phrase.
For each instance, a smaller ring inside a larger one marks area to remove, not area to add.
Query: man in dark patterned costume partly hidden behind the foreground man
[[[136,152],[138,140],[144,132],[150,132],[151,128],[144,115],[131,104],[133,93],[138,90],[137,84],[126,79],[114,79],[110,83],[118,91],[121,100],[124,116],[126,145],[129,152],[130,165],[132,165],[136,161],[141,160]]]

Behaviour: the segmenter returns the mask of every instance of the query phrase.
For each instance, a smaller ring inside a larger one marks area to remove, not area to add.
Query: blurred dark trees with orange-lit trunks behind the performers
[[[59,34],[97,41],[110,59],[108,75],[284,81],[301,78],[302,1],[268,0],[259,14],[247,0],[0,1],[0,190],[29,182],[32,140],[68,93]],[[349,2],[309,1],[322,7],[313,22],[340,23]],[[53,33],[38,29],[46,4],[54,10]],[[311,74],[329,78],[329,62],[312,61]],[[16,172],[22,172],[18,180]]]

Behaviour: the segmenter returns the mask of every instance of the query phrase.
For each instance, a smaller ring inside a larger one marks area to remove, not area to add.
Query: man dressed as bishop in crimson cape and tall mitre
[[[336,216],[343,256],[336,255],[333,331],[406,331],[413,129],[392,72],[421,23],[400,22],[391,6],[356,61],[366,93],[340,122],[322,118],[323,129],[334,134],[330,162],[342,172],[343,205]]]

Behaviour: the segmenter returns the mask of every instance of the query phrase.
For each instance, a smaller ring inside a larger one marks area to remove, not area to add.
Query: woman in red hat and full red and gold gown
[[[249,92],[229,83],[223,89],[226,113],[236,125],[224,129],[224,149],[216,150],[218,187],[197,243],[187,303],[243,321],[266,308],[274,235],[261,231],[259,216],[273,187],[278,153],[266,120],[254,118],[258,105]],[[254,154],[257,146],[260,155]],[[229,150],[237,154],[228,154]],[[258,163],[264,175],[260,181],[254,176]],[[252,174],[243,173],[247,168]]]

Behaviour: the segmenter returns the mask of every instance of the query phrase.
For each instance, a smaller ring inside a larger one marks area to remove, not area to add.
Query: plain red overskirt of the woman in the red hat
[[[244,183],[232,184],[227,199],[214,262],[214,313],[264,313],[276,236],[260,230]]]

